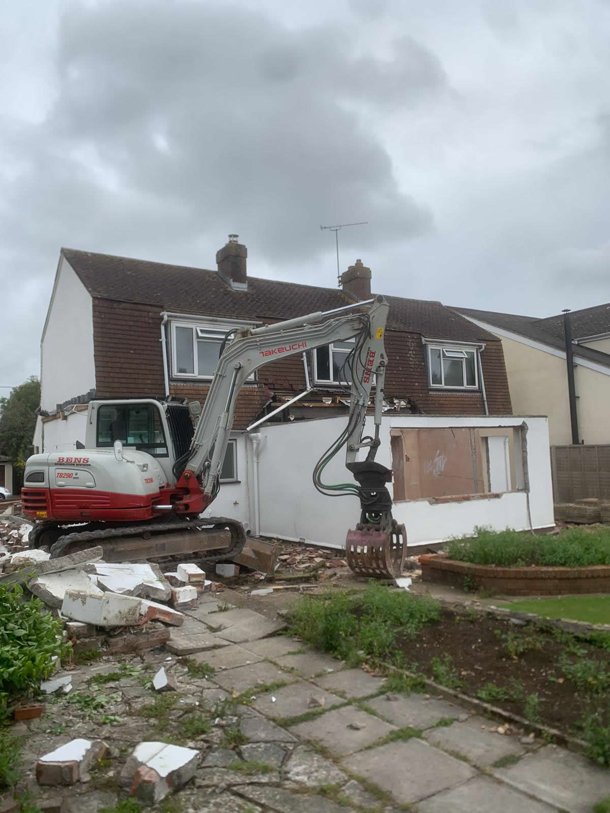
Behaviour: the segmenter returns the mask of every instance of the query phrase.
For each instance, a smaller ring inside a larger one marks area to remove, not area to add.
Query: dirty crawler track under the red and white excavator
[[[57,559],[75,550],[98,546],[102,547],[103,558],[108,562],[164,559],[172,555],[220,549],[217,554],[203,558],[198,556],[198,561],[203,565],[211,565],[240,554],[245,542],[246,532],[241,523],[216,516],[189,522],[125,525],[66,533],[51,546],[50,558]]]

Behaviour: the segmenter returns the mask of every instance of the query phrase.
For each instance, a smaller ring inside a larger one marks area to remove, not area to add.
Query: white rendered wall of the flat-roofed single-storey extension
[[[372,420],[368,432],[372,433]],[[546,418],[428,417],[412,415],[384,417],[377,461],[391,467],[391,428],[499,427],[527,424],[529,511],[534,528],[554,524],[551,463]],[[322,451],[338,437],[344,418],[299,421],[261,428],[264,435],[259,463],[261,533],[269,537],[303,540],[316,545],[342,548],[348,528],[359,521],[355,497],[330,498],[318,493],[312,484],[312,470]],[[329,484],[351,481],[344,466],[344,453],[325,468],[323,480]],[[391,486],[390,486],[391,493]],[[445,541],[473,533],[477,525],[496,530],[529,528],[528,497],[525,492],[505,493],[499,498],[466,502],[428,499],[395,502],[394,518],[407,528],[409,545]]]

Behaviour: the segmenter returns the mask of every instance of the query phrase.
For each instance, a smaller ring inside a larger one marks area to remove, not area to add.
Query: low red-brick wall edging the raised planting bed
[[[560,596],[610,593],[610,566],[497,567],[447,559],[444,554],[420,556],[421,578],[436,584],[490,589],[509,596]]]

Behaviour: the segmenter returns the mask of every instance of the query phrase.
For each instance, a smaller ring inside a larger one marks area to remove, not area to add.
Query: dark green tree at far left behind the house
[[[40,381],[36,376],[11,389],[8,398],[0,398],[0,454],[10,457],[15,467],[15,493],[23,476],[25,461],[32,454],[39,405]]]

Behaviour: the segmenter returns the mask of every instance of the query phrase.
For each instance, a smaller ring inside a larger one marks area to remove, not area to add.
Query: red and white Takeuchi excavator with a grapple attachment
[[[242,524],[203,516],[220,489],[237,394],[266,363],[353,339],[338,376],[351,385],[347,425],[316,463],[313,485],[329,496],[359,498],[359,522],[346,537],[352,570],[399,576],[406,533],[392,518],[387,489],[392,472],[375,462],[388,311],[386,300],[377,296],[258,328],[233,328],[220,346],[203,409],[198,402],[172,398],[89,402],[84,445],[34,454],[26,463],[23,513],[35,520],[29,546],[46,546],[52,559],[102,546],[109,562],[198,551],[207,554],[206,567],[239,554],[246,542]],[[373,386],[371,437],[364,431]],[[343,446],[346,468],[356,482],[326,484],[324,469]]]

